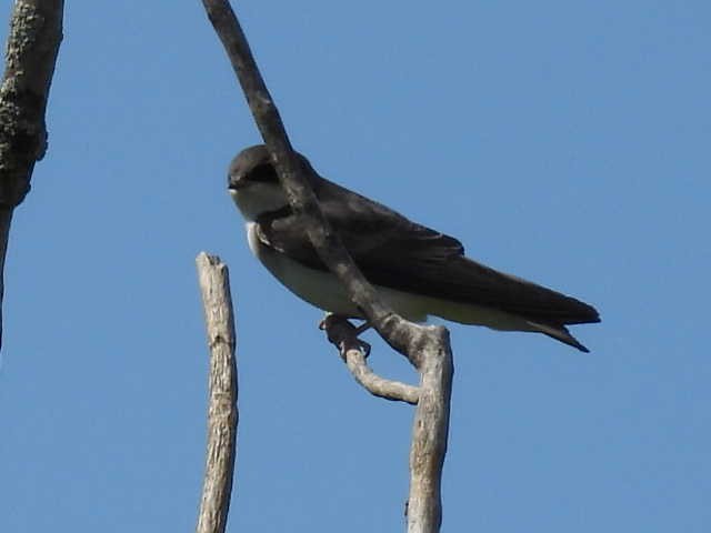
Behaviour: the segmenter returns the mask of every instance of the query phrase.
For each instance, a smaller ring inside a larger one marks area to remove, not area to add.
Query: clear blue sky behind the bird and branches
[[[324,175],[601,311],[589,355],[451,328],[444,531],[709,531],[711,4],[237,3]],[[48,123],[6,272],[0,530],[194,526],[207,250],[239,322],[230,531],[399,531],[412,410],[250,255],[226,168],[259,137],[201,3],[68,2]]]

